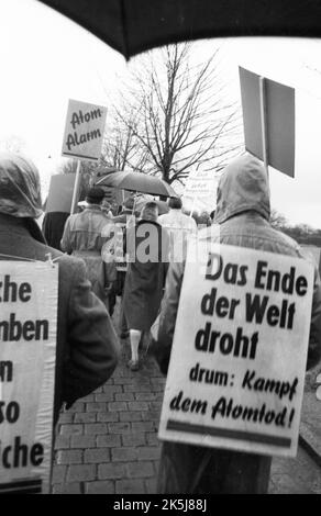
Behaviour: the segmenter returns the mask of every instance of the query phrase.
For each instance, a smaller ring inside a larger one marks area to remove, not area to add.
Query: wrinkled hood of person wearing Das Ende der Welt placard
[[[259,159],[245,154],[228,165],[220,178],[214,222],[221,224],[231,216],[255,211],[269,220],[269,187]]]

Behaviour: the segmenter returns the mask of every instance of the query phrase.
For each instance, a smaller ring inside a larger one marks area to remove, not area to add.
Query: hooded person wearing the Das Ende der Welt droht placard
[[[269,187],[265,169],[257,158],[245,154],[225,168],[217,193],[217,224],[199,232],[199,238],[208,243],[308,259],[297,242],[270,226],[269,215]],[[158,333],[151,346],[151,351],[164,374],[168,369],[184,270],[184,262],[170,265]],[[307,369],[319,362],[320,355],[321,290],[314,266]],[[257,453],[164,441],[158,470],[158,492],[266,493],[270,464],[269,457]]]

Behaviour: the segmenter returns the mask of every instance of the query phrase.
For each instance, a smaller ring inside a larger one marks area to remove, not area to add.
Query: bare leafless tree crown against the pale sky
[[[170,45],[136,58],[133,86],[117,109],[123,157],[131,136],[126,165],[168,183],[184,183],[191,168],[220,171],[241,146],[241,110],[224,94],[219,49],[202,64],[192,63],[191,49]]]

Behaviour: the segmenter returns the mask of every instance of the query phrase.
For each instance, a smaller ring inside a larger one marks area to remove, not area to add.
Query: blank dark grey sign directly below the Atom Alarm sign
[[[52,176],[46,212],[70,213],[76,173]]]

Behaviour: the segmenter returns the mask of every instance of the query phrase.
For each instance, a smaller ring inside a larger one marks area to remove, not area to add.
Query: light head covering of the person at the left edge
[[[0,153],[0,213],[32,218],[42,214],[38,171],[25,156]]]

